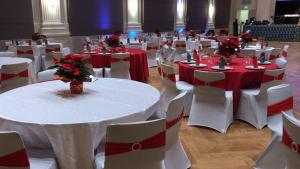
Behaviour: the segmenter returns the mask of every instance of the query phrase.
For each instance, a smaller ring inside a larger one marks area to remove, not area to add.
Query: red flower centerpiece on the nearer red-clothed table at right
[[[225,61],[227,65],[231,63],[232,57],[239,51],[239,43],[232,40],[226,39],[219,45],[218,54],[221,55],[220,62]]]

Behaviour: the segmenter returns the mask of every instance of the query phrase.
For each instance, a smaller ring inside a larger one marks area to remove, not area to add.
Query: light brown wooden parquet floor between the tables
[[[300,43],[271,42],[270,46],[282,48],[289,44],[287,83],[294,92],[295,110],[300,112]],[[160,88],[156,68],[150,69],[148,84]],[[226,134],[204,127],[191,127],[184,119],[180,140],[191,160],[191,169],[251,169],[253,162],[264,151],[271,133],[269,129],[257,130],[251,125],[234,121]]]

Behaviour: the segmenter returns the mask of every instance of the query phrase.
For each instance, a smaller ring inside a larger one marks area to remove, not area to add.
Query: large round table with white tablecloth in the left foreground
[[[80,95],[50,81],[1,94],[0,119],[2,129],[19,132],[28,147],[52,147],[61,169],[92,169],[106,127],[148,119],[159,100],[157,89],[130,80],[84,83]]]

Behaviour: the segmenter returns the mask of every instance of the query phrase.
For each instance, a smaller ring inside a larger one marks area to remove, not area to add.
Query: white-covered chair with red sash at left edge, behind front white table
[[[3,65],[1,68],[0,93],[18,87],[26,86],[29,83],[28,64],[19,63]]]

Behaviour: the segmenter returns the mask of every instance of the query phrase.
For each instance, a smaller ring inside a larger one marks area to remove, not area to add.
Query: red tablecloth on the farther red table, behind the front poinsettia
[[[126,49],[130,53],[130,76],[132,80],[146,82],[149,78],[148,61],[145,51]],[[110,67],[111,54],[91,54],[90,63],[94,68]]]

